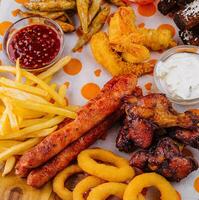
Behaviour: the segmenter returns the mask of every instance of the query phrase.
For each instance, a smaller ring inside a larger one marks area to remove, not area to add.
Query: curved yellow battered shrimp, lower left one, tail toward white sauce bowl
[[[122,58],[111,49],[108,36],[104,32],[96,33],[91,39],[90,46],[97,62],[106,68],[113,76],[128,73],[142,76],[151,73],[154,69],[154,64],[150,62],[132,64],[123,61]]]

